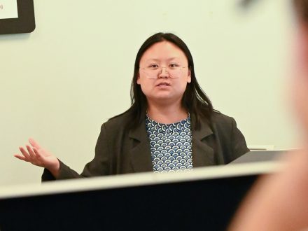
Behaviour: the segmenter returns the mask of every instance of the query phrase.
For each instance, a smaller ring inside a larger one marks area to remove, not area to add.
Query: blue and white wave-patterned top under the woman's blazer
[[[190,115],[178,123],[163,124],[146,116],[154,172],[193,169]]]

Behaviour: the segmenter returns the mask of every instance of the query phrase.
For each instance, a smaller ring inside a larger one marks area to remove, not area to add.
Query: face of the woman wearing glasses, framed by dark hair
[[[148,104],[181,102],[191,77],[188,59],[180,48],[169,41],[155,43],[144,52],[139,66],[137,84]]]

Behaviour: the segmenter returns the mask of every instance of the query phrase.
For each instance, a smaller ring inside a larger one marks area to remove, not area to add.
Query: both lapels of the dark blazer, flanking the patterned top
[[[211,127],[206,121],[201,120],[200,129],[193,130],[193,125],[196,122],[193,113],[190,113],[190,119],[193,132],[193,167],[214,165],[214,150],[207,145],[205,139],[213,134]],[[129,137],[132,139],[130,158],[134,172],[152,172],[151,146],[146,132],[146,121],[143,120],[134,130],[130,130]]]

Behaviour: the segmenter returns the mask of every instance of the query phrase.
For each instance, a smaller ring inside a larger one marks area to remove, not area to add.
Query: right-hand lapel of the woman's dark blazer
[[[192,115],[192,130],[195,125],[195,116]],[[213,134],[206,121],[201,120],[200,129],[193,130],[193,167],[214,165],[214,150],[203,139]]]

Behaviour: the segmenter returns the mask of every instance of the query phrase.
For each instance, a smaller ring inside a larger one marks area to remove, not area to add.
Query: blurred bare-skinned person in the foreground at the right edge
[[[262,176],[229,230],[308,230],[308,0],[293,0],[297,31],[290,92],[303,135],[302,150],[287,153],[281,171]],[[295,61],[295,62],[294,62]]]

